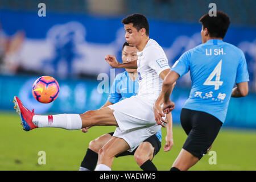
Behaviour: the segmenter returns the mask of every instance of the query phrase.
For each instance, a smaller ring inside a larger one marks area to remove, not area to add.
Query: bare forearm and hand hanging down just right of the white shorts
[[[167,125],[167,135],[166,135],[166,144],[164,145],[164,151],[170,151],[172,146],[174,146],[174,138],[172,135],[172,114],[169,113],[166,115]]]

